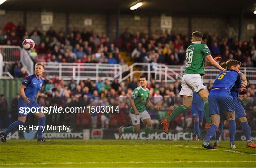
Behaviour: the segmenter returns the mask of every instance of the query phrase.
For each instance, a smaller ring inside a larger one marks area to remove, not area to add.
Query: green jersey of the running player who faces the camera
[[[135,88],[132,92],[131,98],[134,100],[135,107],[139,113],[142,113],[146,110],[146,103],[149,99],[149,89],[143,89],[141,86]],[[130,113],[134,114],[134,110],[131,107]]]

